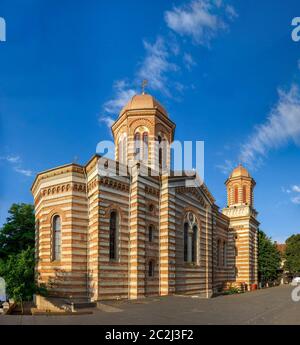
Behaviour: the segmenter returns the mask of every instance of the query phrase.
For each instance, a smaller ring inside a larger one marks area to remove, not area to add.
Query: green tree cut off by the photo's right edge
[[[292,235],[286,241],[285,269],[291,275],[300,274],[300,235]]]

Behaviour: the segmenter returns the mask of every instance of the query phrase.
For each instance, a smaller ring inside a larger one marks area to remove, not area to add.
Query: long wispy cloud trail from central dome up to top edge
[[[226,26],[221,17],[232,19],[236,15],[235,9],[228,6],[222,0],[192,0],[184,6],[166,11],[164,19],[169,28],[168,34],[158,35],[154,43],[143,40],[145,56],[137,65],[133,81],[119,80],[114,83],[114,95],[104,103],[99,121],[110,127],[121,108],[136,93],[133,85],[140,84],[142,79],[148,80],[149,90],[178,99],[174,93],[180,95],[186,87],[176,80],[176,72],[181,70],[181,64],[187,69],[197,64],[193,56],[184,51],[179,37],[186,35],[197,44],[209,43]],[[176,63],[174,57],[177,58]]]

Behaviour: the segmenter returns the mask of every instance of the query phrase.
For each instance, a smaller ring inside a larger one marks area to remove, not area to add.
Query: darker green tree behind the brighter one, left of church
[[[34,248],[34,208],[30,204],[13,204],[7,222],[0,230],[0,259]]]

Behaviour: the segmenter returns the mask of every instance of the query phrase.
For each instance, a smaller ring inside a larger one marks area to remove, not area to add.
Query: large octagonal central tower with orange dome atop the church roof
[[[112,125],[115,160],[133,166],[143,163],[154,170],[170,166],[170,145],[175,124],[151,95],[134,95]]]

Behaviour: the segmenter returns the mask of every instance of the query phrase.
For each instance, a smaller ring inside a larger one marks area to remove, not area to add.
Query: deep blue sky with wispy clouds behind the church
[[[238,164],[261,229],[300,232],[298,0],[0,0],[0,226],[43,170],[86,163],[141,92],[205,142],[205,183],[226,206]]]

